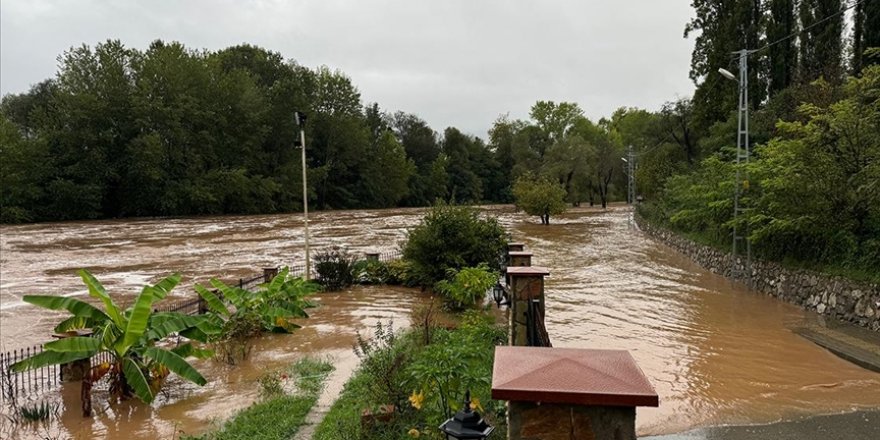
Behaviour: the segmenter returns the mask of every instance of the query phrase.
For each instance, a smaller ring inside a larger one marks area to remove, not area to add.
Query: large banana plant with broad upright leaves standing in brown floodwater
[[[10,369],[20,372],[109,353],[112,361],[89,370],[83,381],[84,387],[91,389],[91,384],[109,375],[113,397],[119,400],[136,395],[146,403],[153,401],[171,372],[199,385],[207,382],[185,358],[207,357],[209,352],[191,343],[173,349],[156,346],[156,342],[172,333],[204,342],[210,334],[218,331],[205,316],[153,312],[153,304],[164,299],[180,282],[179,273],[155,285],[144,286],[134,304],[126,309],[120,308],[87,270],[80,270],[79,276],[88,287],[89,295],[103,303],[103,310],[84,301],[60,296],[25,295],[23,299],[46,309],[70,312],[72,316],[61,321],[55,327],[56,332],[91,329],[92,335],[46,343],[43,352],[12,364]],[[86,396],[83,398],[85,400]],[[90,402],[88,411],[86,402],[83,402],[84,412],[90,413]]]

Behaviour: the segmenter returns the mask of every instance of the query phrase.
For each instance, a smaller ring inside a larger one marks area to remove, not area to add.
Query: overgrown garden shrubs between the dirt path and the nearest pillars
[[[376,333],[359,342],[361,367],[314,439],[433,438],[437,426],[461,409],[467,390],[473,407],[499,432],[506,430],[504,402],[490,399],[494,347],[506,341],[506,330],[491,317],[466,312],[457,328],[434,327],[428,344],[422,329],[396,333],[379,325]]]

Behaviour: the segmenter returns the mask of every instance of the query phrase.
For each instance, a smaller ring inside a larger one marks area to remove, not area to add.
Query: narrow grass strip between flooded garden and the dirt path
[[[318,400],[333,366],[303,358],[259,381],[261,400],[242,410],[214,432],[188,440],[280,440],[292,438]]]

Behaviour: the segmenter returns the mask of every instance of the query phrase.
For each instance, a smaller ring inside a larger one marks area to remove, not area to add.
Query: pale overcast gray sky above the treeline
[[[250,43],[348,74],[364,103],[485,137],[500,114],[574,101],[591,119],[689,96],[690,0],[2,0],[0,93],[71,46]]]

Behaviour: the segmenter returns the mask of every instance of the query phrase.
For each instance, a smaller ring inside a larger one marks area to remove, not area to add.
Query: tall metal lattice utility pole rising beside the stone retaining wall
[[[749,241],[748,222],[743,227],[739,226],[739,217],[744,214],[746,208],[743,197],[749,189],[749,69],[748,59],[750,51],[743,49],[739,53],[739,110],[737,112],[737,135],[736,135],[736,180],[734,181],[733,195],[733,247],[731,252],[731,276],[745,276],[746,282],[751,285],[752,281],[752,244]],[[745,166],[743,166],[745,165]],[[743,249],[745,248],[745,249]],[[745,263],[740,267],[737,261],[744,258]]]

